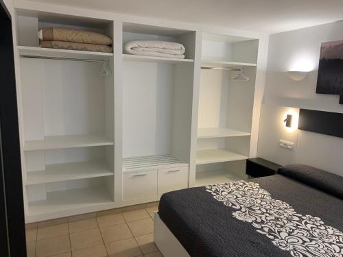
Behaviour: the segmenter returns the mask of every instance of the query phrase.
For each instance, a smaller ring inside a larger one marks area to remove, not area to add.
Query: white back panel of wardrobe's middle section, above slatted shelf
[[[155,154],[156,64],[123,63],[123,157]]]

